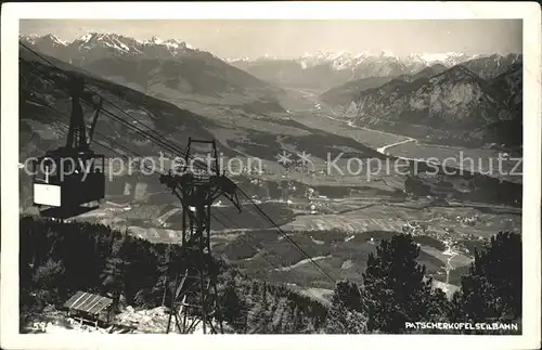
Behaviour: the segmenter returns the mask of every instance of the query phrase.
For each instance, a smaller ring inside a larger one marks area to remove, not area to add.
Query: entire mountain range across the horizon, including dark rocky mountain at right
[[[283,88],[297,87],[324,91],[320,102],[348,109],[353,125],[443,144],[520,142],[521,54],[319,52],[249,60],[220,59],[181,40],[117,34],[89,33],[73,41],[21,36],[21,41],[181,108],[197,101],[203,109],[190,107],[197,114],[210,105],[285,114]]]

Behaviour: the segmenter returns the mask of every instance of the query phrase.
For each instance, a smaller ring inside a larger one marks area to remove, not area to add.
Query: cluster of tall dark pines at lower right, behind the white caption
[[[383,241],[371,255],[360,286],[337,283],[326,320],[330,333],[436,333],[405,329],[405,322],[502,322],[521,324],[521,238],[501,232],[476,251],[451,300],[431,288],[420,248],[410,235]],[[358,320],[356,327],[352,320]],[[451,333],[452,330],[450,330]],[[453,330],[517,334],[515,330]],[[520,328],[519,328],[520,333]]]

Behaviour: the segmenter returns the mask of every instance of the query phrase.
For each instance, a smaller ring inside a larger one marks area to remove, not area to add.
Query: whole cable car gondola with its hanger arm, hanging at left
[[[88,206],[105,198],[104,156],[90,150],[102,101],[94,105],[94,115],[87,135],[80,100],[83,80],[69,80],[72,115],[66,145],[49,151],[34,164],[34,205],[44,217],[67,219],[98,206]],[[43,209],[43,210],[41,210]]]

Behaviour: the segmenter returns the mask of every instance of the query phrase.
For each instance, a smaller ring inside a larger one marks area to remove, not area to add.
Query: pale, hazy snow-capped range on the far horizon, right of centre
[[[467,55],[464,53],[415,53],[397,56],[390,52],[358,54],[317,53],[297,59],[260,57],[227,60],[233,66],[255,77],[279,86],[306,87],[328,90],[336,86],[366,78],[412,75],[426,67],[447,68],[466,64],[483,78],[502,74],[506,66],[521,61],[521,54]],[[504,68],[504,69],[503,69]]]

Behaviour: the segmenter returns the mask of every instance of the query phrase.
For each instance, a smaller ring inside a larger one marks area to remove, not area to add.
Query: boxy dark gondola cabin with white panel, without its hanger
[[[34,164],[34,204],[75,209],[105,198],[104,156],[75,150],[49,152]]]

